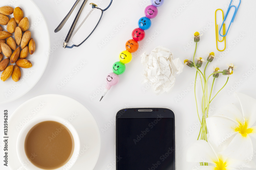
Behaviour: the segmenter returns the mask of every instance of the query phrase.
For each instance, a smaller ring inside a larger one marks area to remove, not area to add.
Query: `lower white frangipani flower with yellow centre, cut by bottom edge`
[[[208,166],[200,166],[198,170],[237,170],[240,167],[255,168],[256,165],[250,161],[234,160],[219,154],[222,147],[216,147],[212,142],[209,134],[208,142],[197,140],[193,143],[187,152],[187,162],[204,162]]]

